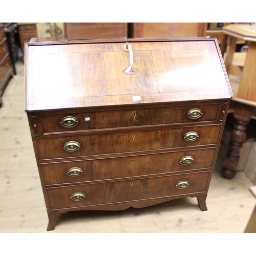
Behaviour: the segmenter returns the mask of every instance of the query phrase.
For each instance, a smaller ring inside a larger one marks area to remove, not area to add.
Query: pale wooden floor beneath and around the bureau
[[[25,78],[22,61],[10,80],[0,109],[0,232],[47,232],[48,216],[38,176],[27,116],[24,111]],[[49,232],[243,232],[255,205],[253,184],[244,172],[227,180],[217,161],[201,211],[196,198],[122,211],[77,211],[61,215]]]

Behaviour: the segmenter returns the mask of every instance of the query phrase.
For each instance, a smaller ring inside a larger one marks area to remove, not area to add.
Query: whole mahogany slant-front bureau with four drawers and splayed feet
[[[26,43],[26,112],[49,217],[196,197],[232,92],[217,39]]]

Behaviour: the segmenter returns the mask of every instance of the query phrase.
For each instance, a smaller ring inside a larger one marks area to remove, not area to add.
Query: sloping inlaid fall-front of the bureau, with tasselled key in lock
[[[26,111],[230,99],[218,47],[212,38],[34,40],[25,51]],[[131,55],[134,72],[124,73]]]

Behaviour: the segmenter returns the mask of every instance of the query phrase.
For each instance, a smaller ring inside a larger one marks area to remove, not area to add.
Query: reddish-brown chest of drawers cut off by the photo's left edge
[[[5,26],[8,26],[8,24],[0,23],[0,106],[3,104],[2,95],[4,90],[9,79],[13,76],[8,43],[4,30]]]

